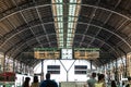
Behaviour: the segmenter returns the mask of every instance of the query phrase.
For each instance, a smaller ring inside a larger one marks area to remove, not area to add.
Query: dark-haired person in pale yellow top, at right
[[[104,74],[98,75],[98,82],[95,84],[95,87],[106,87]]]

